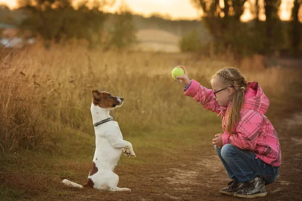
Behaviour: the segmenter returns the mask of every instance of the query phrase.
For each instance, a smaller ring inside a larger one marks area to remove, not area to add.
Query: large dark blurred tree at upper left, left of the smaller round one
[[[72,7],[72,0],[19,0],[20,9],[27,13],[21,28],[38,33],[46,42],[52,39],[86,39],[89,47],[100,43],[106,16],[102,9],[115,0],[82,1],[78,9]]]

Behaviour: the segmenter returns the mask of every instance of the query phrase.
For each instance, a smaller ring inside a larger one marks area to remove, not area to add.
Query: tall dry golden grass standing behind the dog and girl
[[[124,135],[219,121],[183,96],[183,86],[171,77],[176,65],[187,66],[190,78],[210,87],[213,73],[231,64],[193,54],[102,52],[76,46],[12,51],[0,60],[0,146],[3,151],[52,149],[66,127],[93,135],[94,89],[125,98],[123,107],[112,112]],[[293,73],[269,68],[246,76],[280,95],[298,79],[290,76]]]

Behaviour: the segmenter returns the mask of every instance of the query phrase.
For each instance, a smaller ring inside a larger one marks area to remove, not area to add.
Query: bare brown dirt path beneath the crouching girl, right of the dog
[[[266,186],[267,196],[258,199],[302,200],[299,179],[302,173],[301,129],[302,113],[294,114],[277,126],[282,150],[280,174],[274,183]],[[145,176],[150,179],[149,190],[142,189],[143,185],[137,183],[132,187],[131,195],[126,197],[129,200],[139,200],[139,197],[140,200],[238,200],[218,193],[230,178],[211,146],[200,147],[194,156],[185,158],[187,160],[179,160],[171,166],[160,165],[158,171]]]

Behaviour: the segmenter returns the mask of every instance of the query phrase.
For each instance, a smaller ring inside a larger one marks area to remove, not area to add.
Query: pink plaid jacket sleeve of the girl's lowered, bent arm
[[[263,117],[257,111],[245,110],[236,132],[228,137],[229,142],[240,149],[254,150],[262,122]]]

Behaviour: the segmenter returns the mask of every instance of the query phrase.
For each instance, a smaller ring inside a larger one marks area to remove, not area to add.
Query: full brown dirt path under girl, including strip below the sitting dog
[[[274,183],[266,186],[267,196],[257,200],[302,200],[299,179],[302,173],[302,113],[285,119],[277,127],[282,149],[280,174]],[[76,197],[79,190],[74,189],[77,193],[73,200],[240,200],[218,193],[230,178],[210,145],[193,148],[169,163],[159,161],[150,166],[126,168],[129,169],[118,167],[116,172],[121,175],[119,185],[131,188],[131,193],[84,189],[81,190],[83,196]]]

